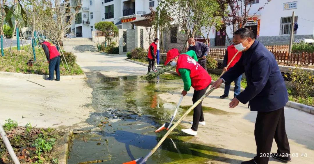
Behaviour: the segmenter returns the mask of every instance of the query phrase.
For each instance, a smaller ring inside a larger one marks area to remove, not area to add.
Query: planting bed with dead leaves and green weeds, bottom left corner
[[[8,119],[3,125],[8,139],[21,163],[57,163],[60,154],[57,143],[62,143],[64,132],[52,128],[34,128],[27,123],[25,127]],[[0,158],[4,163],[12,163],[11,157],[0,138]]]

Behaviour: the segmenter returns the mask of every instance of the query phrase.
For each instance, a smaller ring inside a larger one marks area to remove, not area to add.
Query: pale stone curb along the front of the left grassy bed
[[[16,72],[0,72],[0,76],[13,76],[13,77],[21,77],[21,78],[32,78],[32,79],[46,79],[48,75],[34,75],[34,74],[26,74],[26,73],[16,73]],[[61,79],[86,79],[86,74],[77,75],[77,76],[61,76]]]

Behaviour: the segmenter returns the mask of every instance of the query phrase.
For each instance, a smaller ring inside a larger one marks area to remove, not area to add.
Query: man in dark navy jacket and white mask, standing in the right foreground
[[[255,40],[253,32],[248,28],[238,29],[233,42],[236,49],[243,52],[242,56],[212,87],[217,89],[223,82],[230,84],[245,73],[247,87],[229,104],[230,108],[234,108],[239,102],[248,102],[251,111],[257,111],[254,131],[257,155],[242,164],[267,164],[269,157],[290,162],[290,147],[284,122],[288,92],[274,55]],[[277,153],[270,154],[273,138],[278,150]]]

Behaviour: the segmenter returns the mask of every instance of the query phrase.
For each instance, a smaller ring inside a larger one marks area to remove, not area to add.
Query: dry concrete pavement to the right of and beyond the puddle
[[[76,53],[78,64],[84,71],[100,71],[107,76],[142,75],[147,67],[124,59],[126,56],[105,56],[100,53]],[[164,93],[159,96],[168,102],[177,102],[181,91],[174,94]],[[192,105],[193,89],[188,92],[181,105]],[[223,160],[208,161],[208,163],[240,163],[250,160],[255,156],[256,145],[254,140],[254,123],[256,112],[251,112],[247,105],[239,104],[235,109],[230,109],[229,99],[220,99],[223,89],[215,90],[203,101],[203,106],[214,107],[218,111],[205,113],[206,126],[200,126],[198,136],[191,142],[212,145],[216,150],[223,152]],[[230,92],[233,95],[233,92]],[[293,162],[310,164],[314,161],[314,115],[298,111],[289,107],[285,108],[286,129],[289,137]],[[187,117],[183,125],[191,125],[192,117]],[[276,152],[273,142],[272,152]],[[306,157],[305,156],[306,153]],[[303,157],[301,157],[303,154]],[[270,164],[280,163],[270,158]]]

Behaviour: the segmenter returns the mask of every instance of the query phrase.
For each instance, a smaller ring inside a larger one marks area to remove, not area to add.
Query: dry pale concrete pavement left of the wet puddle
[[[46,81],[0,76],[0,120],[15,120],[20,126],[63,129],[89,126],[85,123],[93,108],[92,89],[85,80]]]

